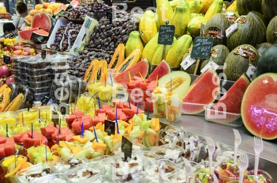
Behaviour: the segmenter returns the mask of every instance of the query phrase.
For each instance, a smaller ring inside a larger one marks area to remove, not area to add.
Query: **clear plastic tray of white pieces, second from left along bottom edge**
[[[84,183],[89,183],[94,182],[92,180],[95,180],[95,178],[101,178],[103,174],[104,170],[101,167],[92,164],[84,164],[75,168],[74,170],[69,170],[66,173],[66,176],[72,183],[81,181]]]

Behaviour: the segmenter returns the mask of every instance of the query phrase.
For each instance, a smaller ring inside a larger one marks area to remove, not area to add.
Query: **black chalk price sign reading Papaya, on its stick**
[[[175,26],[162,25],[159,30],[158,44],[164,45],[161,61],[165,58],[166,45],[172,45]]]

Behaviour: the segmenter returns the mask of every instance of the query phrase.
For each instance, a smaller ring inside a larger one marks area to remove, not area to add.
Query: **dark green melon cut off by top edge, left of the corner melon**
[[[240,15],[247,15],[250,11],[262,11],[262,0],[236,0],[236,9]]]

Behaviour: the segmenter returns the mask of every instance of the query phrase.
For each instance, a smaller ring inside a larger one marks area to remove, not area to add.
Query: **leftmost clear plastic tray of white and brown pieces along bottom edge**
[[[39,178],[46,177],[50,174],[54,174],[56,169],[49,163],[44,162],[43,164],[36,164],[31,166],[30,168],[26,168],[23,170],[20,170],[16,173],[15,177],[16,180],[20,183],[26,183],[26,182],[33,182],[36,179],[34,176],[28,176],[30,174],[41,174]]]

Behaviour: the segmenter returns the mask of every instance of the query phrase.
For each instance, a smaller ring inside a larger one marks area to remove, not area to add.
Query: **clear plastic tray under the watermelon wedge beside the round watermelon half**
[[[241,114],[212,110],[213,106],[214,104],[204,106],[206,121],[234,127],[243,125]]]

